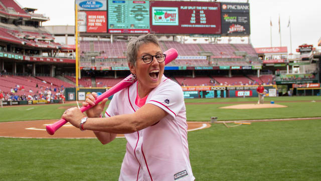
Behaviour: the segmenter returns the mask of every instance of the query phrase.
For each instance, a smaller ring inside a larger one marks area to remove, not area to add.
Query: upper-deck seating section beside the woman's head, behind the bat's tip
[[[180,56],[198,56],[202,52],[197,44],[182,44],[179,42],[164,42],[168,49],[175,48]],[[164,50],[166,51],[166,50]]]

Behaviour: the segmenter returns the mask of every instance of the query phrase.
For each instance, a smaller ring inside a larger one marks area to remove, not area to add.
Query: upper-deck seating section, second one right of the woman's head
[[[234,52],[237,51],[230,44],[200,44],[200,46],[205,52],[212,52],[213,56],[235,56]]]

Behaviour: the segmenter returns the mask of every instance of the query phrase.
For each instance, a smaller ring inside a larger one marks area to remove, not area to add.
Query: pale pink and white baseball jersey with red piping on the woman
[[[105,116],[134,113],[139,109],[136,96],[137,83],[116,93]],[[153,126],[125,134],[126,153],[119,180],[194,180],[182,87],[163,75],[146,104],[156,105],[168,115]]]

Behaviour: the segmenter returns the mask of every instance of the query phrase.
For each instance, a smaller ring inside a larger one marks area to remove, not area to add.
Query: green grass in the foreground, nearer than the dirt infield
[[[197,180],[319,180],[321,120],[189,132]],[[117,180],[125,139],[0,138],[0,180]]]

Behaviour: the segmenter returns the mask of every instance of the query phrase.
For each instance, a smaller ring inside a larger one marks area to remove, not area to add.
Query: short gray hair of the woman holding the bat
[[[127,53],[126,53],[127,62],[135,66],[138,49],[141,45],[146,43],[154,43],[159,48],[161,48],[161,46],[159,46],[157,37],[153,34],[148,33],[146,35],[134,37],[129,40],[127,45]]]

